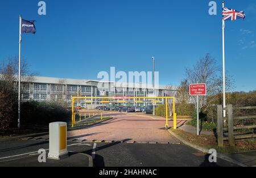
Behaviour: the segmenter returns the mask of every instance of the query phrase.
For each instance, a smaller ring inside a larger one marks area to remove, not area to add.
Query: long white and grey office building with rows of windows
[[[73,96],[86,96],[86,100],[76,100],[75,105],[88,107],[88,105],[101,105],[100,99],[91,99],[96,96],[116,97],[118,105],[146,106],[152,104],[146,99],[129,99],[129,97],[147,96],[169,96],[170,92],[175,92],[175,88],[170,90],[163,86],[147,86],[141,83],[116,83],[102,82],[98,80],[82,79],[62,79],[51,77],[35,77],[33,82],[22,82],[22,101],[50,101],[65,100],[68,105],[72,105]],[[140,101],[141,100],[141,101]],[[117,104],[115,103],[115,104]],[[163,99],[159,99],[158,104],[164,104]]]

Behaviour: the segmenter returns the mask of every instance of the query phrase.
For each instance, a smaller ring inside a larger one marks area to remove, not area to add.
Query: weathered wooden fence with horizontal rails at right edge
[[[240,125],[240,126],[234,126],[234,121],[238,120],[246,120],[246,119],[256,119],[256,116],[238,116],[233,117],[233,112],[236,109],[256,109],[256,107],[233,107],[231,104],[228,105],[227,108],[223,108],[222,105],[218,105],[217,107],[217,118],[218,118],[218,127],[217,127],[217,134],[218,134],[218,146],[223,146],[223,141],[229,141],[230,146],[235,146],[235,140],[236,139],[249,139],[249,138],[256,138],[255,132],[253,134],[235,134],[234,130],[241,130],[241,129],[255,129],[256,128],[256,122],[252,125]],[[227,120],[228,124],[224,125],[223,120],[223,111],[227,112],[227,117],[225,120]],[[228,137],[224,135],[224,132],[228,132]]]

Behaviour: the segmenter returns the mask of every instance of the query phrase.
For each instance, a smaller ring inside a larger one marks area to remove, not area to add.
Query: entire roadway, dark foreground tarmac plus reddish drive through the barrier
[[[69,131],[68,151],[92,155],[96,167],[236,166],[222,159],[209,163],[208,155],[172,137],[164,129],[164,120],[126,114],[114,117],[89,128]],[[179,125],[183,123],[179,121]],[[169,124],[172,126],[172,122]],[[1,141],[0,166],[38,166],[31,163],[37,159],[39,149],[48,149],[48,135]]]

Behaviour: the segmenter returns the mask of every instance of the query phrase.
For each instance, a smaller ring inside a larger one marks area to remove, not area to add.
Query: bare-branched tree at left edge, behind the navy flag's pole
[[[30,74],[26,62],[20,66],[20,80],[32,82],[34,75]],[[22,94],[23,87],[20,87]],[[18,58],[9,58],[7,63],[0,65],[0,128],[14,126],[18,116]]]

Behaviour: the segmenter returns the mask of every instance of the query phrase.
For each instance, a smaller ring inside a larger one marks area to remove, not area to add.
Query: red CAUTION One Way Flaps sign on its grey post
[[[189,95],[196,96],[196,118],[197,118],[197,135],[199,135],[199,96],[207,95],[207,87],[205,83],[190,84]]]

